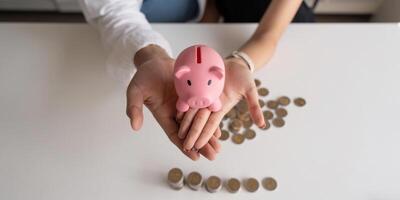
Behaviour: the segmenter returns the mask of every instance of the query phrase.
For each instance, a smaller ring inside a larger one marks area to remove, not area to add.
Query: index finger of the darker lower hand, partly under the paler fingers
[[[198,160],[200,154],[196,151],[184,151],[183,150],[183,140],[178,138],[178,124],[173,120],[173,118],[168,117],[156,117],[158,123],[163,128],[168,138],[172,143],[175,144],[178,149],[180,149],[186,156],[192,160]]]

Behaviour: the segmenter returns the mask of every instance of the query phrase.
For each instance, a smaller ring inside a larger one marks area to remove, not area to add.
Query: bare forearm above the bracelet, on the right
[[[272,57],[283,32],[302,0],[273,0],[252,37],[239,49],[253,60],[256,69]]]

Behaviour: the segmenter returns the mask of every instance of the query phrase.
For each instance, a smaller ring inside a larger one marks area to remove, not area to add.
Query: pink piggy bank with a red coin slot
[[[206,108],[219,111],[219,96],[224,89],[225,65],[212,48],[194,45],[183,50],[175,61],[175,89],[178,94],[176,109]]]

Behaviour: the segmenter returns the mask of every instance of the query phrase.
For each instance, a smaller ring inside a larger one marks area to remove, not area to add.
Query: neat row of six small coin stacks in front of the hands
[[[167,180],[168,184],[175,190],[182,189],[186,184],[190,189],[197,191],[204,185],[205,189],[210,193],[220,191],[223,186],[228,192],[237,193],[242,186],[242,183],[237,178],[229,178],[224,183],[220,177],[210,176],[203,181],[203,177],[199,172],[190,172],[185,178],[179,168],[169,170]],[[276,180],[272,177],[264,178],[261,185],[268,191],[274,191],[278,187]],[[248,192],[256,192],[260,187],[260,183],[256,178],[247,178],[243,180],[243,187]]]

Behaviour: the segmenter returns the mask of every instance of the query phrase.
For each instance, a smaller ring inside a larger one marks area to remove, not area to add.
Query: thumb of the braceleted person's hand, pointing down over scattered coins
[[[247,105],[249,107],[250,116],[253,122],[260,128],[265,127],[264,115],[258,102],[258,93],[255,85],[245,94]]]

